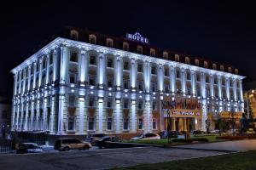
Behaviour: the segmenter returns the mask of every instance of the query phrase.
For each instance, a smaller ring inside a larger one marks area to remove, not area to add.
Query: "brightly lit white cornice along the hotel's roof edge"
[[[84,48],[87,51],[95,50],[96,52],[98,52],[98,53],[101,52],[103,54],[108,54],[108,53],[109,54],[117,54],[121,57],[127,56],[129,58],[134,58],[134,59],[148,60],[149,62],[152,62],[152,63],[161,63],[162,65],[172,65],[172,66],[178,67],[178,68],[185,68],[185,69],[189,69],[189,70],[205,72],[207,74],[217,75],[217,76],[221,76],[221,77],[232,77],[232,78],[236,78],[238,80],[242,80],[243,78],[245,78],[245,77],[242,77],[242,76],[239,76],[236,74],[232,74],[229,72],[215,71],[215,70],[202,68],[202,67],[195,66],[195,65],[179,63],[177,61],[171,61],[171,60],[167,60],[167,59],[158,59],[158,58],[150,57],[148,55],[135,54],[135,53],[128,52],[125,50],[121,50],[121,49],[108,48],[108,47],[104,47],[101,45],[90,44],[87,42],[78,42],[78,41],[61,38],[61,37],[57,37],[52,42],[49,42],[49,44],[44,46],[44,48],[40,49],[36,54],[32,54],[32,56],[30,58],[26,59],[20,65],[16,66],[11,72],[13,74],[15,74],[17,71],[20,71],[20,69],[25,67],[25,65],[31,64],[34,60],[37,60],[40,56],[42,56],[44,54],[48,54],[50,50],[58,48],[61,45],[65,45],[67,47]]]

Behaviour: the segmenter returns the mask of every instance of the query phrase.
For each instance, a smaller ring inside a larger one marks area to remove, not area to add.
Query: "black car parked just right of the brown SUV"
[[[115,136],[105,136],[102,139],[96,140],[96,146],[102,148],[120,148],[123,144],[120,144],[122,139]]]

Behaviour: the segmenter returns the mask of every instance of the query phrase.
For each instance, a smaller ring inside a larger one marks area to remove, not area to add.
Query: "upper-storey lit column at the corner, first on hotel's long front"
[[[61,46],[61,70],[60,70],[60,84],[66,84],[68,75],[68,63],[70,59],[70,50],[65,46]]]

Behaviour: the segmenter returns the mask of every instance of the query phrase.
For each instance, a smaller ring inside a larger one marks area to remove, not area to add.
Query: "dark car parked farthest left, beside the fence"
[[[41,153],[41,152],[43,152],[42,148],[35,143],[20,143],[18,146],[18,150],[16,150],[17,154]]]

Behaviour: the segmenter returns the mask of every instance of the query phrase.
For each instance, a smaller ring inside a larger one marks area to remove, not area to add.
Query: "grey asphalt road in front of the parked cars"
[[[216,156],[225,152],[211,150],[180,150],[156,147],[77,150],[30,155],[0,156],[1,170],[59,170],[108,169],[141,163],[183,160],[202,156]]]

